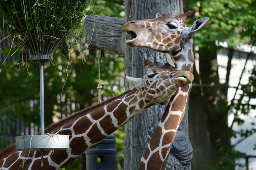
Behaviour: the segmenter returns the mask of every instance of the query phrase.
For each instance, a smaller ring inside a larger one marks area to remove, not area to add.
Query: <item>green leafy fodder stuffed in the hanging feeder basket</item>
[[[88,5],[93,6],[93,1],[1,0],[0,28],[5,33],[20,35],[21,40],[35,32],[40,39],[50,29],[77,29]]]

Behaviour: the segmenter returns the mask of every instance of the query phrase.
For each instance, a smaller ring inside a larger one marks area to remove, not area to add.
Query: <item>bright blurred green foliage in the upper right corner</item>
[[[198,18],[210,21],[195,35],[194,43],[202,49],[212,49],[215,41],[228,42],[229,47],[252,43],[256,37],[255,0],[204,0],[191,2]]]

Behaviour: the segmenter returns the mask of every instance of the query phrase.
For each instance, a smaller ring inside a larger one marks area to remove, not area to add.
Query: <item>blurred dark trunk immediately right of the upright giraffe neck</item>
[[[199,77],[194,69],[193,83],[199,84]],[[201,87],[192,86],[189,96],[189,138],[193,146],[192,169],[209,169],[212,162],[212,147],[207,125],[207,114]]]

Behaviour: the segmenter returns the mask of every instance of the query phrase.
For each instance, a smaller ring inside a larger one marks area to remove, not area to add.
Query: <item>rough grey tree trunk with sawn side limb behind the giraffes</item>
[[[126,0],[126,20],[120,18],[111,18],[106,16],[95,17],[98,24],[94,24],[94,17],[85,18],[84,33],[87,37],[87,43],[91,47],[97,47],[125,56],[125,74],[132,75],[132,57],[131,48],[125,45],[126,34],[121,32],[125,21],[132,20],[131,0]],[[137,1],[138,20],[155,18],[157,13],[166,12],[176,15],[180,13],[178,0],[140,0]],[[95,26],[95,27],[94,27]],[[137,77],[146,74],[144,59],[149,58],[152,61],[161,63],[171,63],[168,54],[156,53],[144,48],[137,50]],[[126,84],[126,89],[128,84]],[[138,169],[142,154],[164,113],[166,105],[152,106],[140,115],[136,116],[136,155],[135,167]],[[169,160],[168,169],[189,169],[192,158],[192,147],[188,139],[188,108],[180,125],[179,131],[173,143]],[[125,130],[125,162],[124,169],[130,170],[130,122],[126,124]],[[186,164],[186,165],[185,165]]]

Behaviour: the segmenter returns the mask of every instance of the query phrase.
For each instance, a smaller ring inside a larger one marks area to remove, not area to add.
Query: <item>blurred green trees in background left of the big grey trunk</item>
[[[86,15],[106,15],[124,18],[124,1],[94,2],[87,7]],[[98,103],[98,49],[88,47],[84,41],[83,22],[78,28],[76,45],[64,42],[54,54],[54,60],[44,64],[45,127],[76,111]],[[74,41],[71,39],[70,41]],[[3,45],[4,44],[4,45]],[[4,46],[7,46],[4,48]],[[10,43],[2,41],[0,59],[0,150],[20,135],[20,127],[40,129],[39,65],[21,61],[20,51],[10,49]],[[68,50],[70,49],[70,50]],[[7,54],[9,55],[7,56]],[[6,58],[7,56],[7,58]],[[107,83],[101,89],[102,100],[124,92],[124,56],[104,52],[100,60],[100,82]],[[15,125],[14,125],[15,124]],[[25,130],[24,129],[24,130]],[[24,132],[23,132],[24,133]],[[25,134],[28,135],[28,134]],[[123,156],[124,129],[115,133],[117,168]],[[85,155],[68,165],[67,170],[86,169]]]

